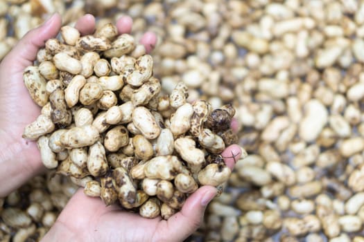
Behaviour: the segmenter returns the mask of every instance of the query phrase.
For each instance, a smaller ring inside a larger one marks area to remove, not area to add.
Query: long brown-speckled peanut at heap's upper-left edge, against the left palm
[[[28,66],[23,74],[24,84],[33,101],[44,106],[48,102],[49,93],[46,92],[46,80],[40,75],[37,66]]]

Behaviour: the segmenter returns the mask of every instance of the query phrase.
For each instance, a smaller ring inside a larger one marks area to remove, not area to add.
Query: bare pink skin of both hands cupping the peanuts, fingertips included
[[[130,32],[132,19],[122,17],[116,26],[120,34]],[[40,107],[28,95],[22,75],[24,68],[33,64],[37,50],[47,39],[55,37],[60,27],[60,15],[55,14],[28,32],[0,64],[0,197],[45,171],[36,143],[21,138],[24,127],[40,114]],[[75,27],[82,35],[92,34],[95,19],[85,15]],[[140,43],[149,53],[156,41],[155,34],[146,32]],[[230,169],[240,152],[237,145],[223,151]],[[216,192],[215,187],[200,187],[187,198],[180,212],[164,221],[159,217],[141,218],[121,211],[116,205],[105,207],[101,199],[85,196],[80,188],[43,241],[183,241],[200,226],[205,208]]]

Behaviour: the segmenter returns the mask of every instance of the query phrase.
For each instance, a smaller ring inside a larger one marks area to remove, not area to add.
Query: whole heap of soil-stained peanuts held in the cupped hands
[[[190,104],[183,82],[161,93],[153,58],[112,24],[94,35],[70,26],[60,34],[24,71],[42,111],[23,138],[37,140],[45,167],[146,218],[168,219],[200,185],[229,178],[218,154],[237,141],[231,105]]]

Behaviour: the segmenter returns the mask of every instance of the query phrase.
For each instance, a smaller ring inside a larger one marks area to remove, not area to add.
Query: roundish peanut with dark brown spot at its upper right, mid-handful
[[[108,151],[115,152],[121,147],[128,145],[128,142],[128,129],[120,125],[107,131],[103,145]]]

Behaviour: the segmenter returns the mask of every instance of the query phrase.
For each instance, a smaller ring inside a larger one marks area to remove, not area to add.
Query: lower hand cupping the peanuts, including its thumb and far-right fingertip
[[[232,158],[232,154],[236,155]],[[241,148],[231,145],[222,153],[232,169],[241,156]],[[202,223],[205,208],[216,195],[216,188],[200,187],[187,198],[182,210],[167,221],[142,218],[122,211],[119,205],[106,207],[100,198],[92,198],[79,189],[64,207],[43,241],[183,241]]]

